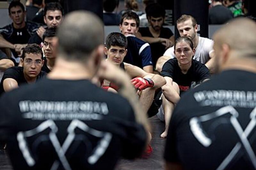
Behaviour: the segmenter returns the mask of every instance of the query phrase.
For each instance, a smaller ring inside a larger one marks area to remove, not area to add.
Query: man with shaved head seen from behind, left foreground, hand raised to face
[[[145,148],[146,113],[129,77],[103,61],[103,33],[96,15],[69,13],[47,78],[0,98],[0,139],[14,169],[114,169]],[[93,85],[95,75],[120,85],[121,96]]]

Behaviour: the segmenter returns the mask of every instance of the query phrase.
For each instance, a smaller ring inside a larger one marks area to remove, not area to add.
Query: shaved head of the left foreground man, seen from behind
[[[100,18],[91,12],[71,12],[61,23],[57,37],[62,57],[68,60],[84,60],[103,44],[103,24]]]

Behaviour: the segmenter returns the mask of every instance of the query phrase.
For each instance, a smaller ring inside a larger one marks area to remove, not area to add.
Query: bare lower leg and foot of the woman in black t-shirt
[[[176,92],[178,92],[178,94],[180,94],[180,89],[179,89],[179,85],[175,82],[172,82],[172,86],[175,89]],[[164,95],[162,94],[162,99],[163,99],[163,109],[164,109],[164,122],[165,122],[165,130],[164,132],[160,135],[160,137],[162,138],[166,138],[167,133],[168,133],[168,129],[169,129],[169,124],[170,124],[170,120],[172,117],[172,111],[174,109],[175,104],[172,103],[171,101],[167,100]]]

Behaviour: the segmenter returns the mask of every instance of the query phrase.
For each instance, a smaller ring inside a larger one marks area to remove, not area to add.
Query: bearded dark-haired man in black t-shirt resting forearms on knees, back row
[[[158,3],[149,4],[146,7],[149,27],[140,27],[136,35],[150,44],[153,66],[156,68],[157,59],[163,56],[166,49],[173,46],[174,35],[172,30],[163,27],[165,10]]]

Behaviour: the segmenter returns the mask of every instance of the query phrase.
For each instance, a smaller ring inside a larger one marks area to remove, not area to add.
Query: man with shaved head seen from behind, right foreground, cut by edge
[[[254,35],[256,23],[247,18],[214,34],[220,74],[178,102],[166,140],[165,169],[256,169]]]

